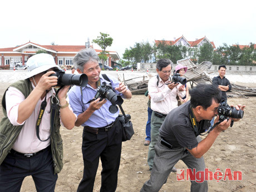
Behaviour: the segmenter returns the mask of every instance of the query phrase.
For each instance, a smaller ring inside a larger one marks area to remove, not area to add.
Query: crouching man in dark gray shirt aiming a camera
[[[214,85],[201,84],[190,90],[190,95],[190,101],[173,109],[159,129],[150,180],[146,181],[141,191],[159,191],[179,160],[183,160],[188,168],[195,169],[196,172],[205,171],[203,155],[210,149],[221,131],[230,126],[231,118],[222,121],[201,141],[199,134],[209,128],[210,120],[218,114],[221,91]],[[237,110],[243,110],[244,107],[235,106]],[[215,123],[218,121],[219,116],[215,119]],[[203,183],[191,181],[191,191],[208,191],[207,181]]]

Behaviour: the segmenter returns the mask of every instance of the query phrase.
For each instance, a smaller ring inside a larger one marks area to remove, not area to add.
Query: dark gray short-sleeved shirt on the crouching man
[[[198,146],[194,127],[189,116],[190,101],[171,110],[159,129],[159,135],[174,147],[193,149]],[[210,127],[209,120],[201,120],[198,124],[199,133]]]

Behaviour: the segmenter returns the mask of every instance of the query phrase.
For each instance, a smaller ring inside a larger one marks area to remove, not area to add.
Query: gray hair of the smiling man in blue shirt
[[[88,61],[99,62],[99,60],[100,59],[96,51],[93,50],[93,48],[87,48],[76,54],[76,56],[73,58],[73,65],[83,72],[83,67]]]

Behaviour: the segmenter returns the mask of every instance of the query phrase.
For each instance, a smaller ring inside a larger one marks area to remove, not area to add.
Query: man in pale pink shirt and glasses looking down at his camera
[[[157,76],[149,80],[148,90],[151,97],[151,142],[149,144],[149,153],[147,164],[149,170],[152,169],[155,156],[155,144],[159,135],[159,129],[163,124],[166,115],[178,107],[176,96],[184,97],[185,87],[180,83],[171,82],[171,61],[161,59],[156,63]],[[174,170],[175,171],[175,170]]]

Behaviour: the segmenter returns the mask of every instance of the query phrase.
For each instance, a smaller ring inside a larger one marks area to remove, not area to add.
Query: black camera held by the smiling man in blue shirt
[[[117,95],[113,90],[112,86],[108,85],[106,82],[102,82],[101,86],[97,88],[97,93],[95,95],[95,100],[100,98],[100,101],[103,99],[107,99],[111,102],[111,106],[109,107],[109,111],[112,114],[115,114],[118,110],[116,105],[122,105],[124,100],[120,95]]]

